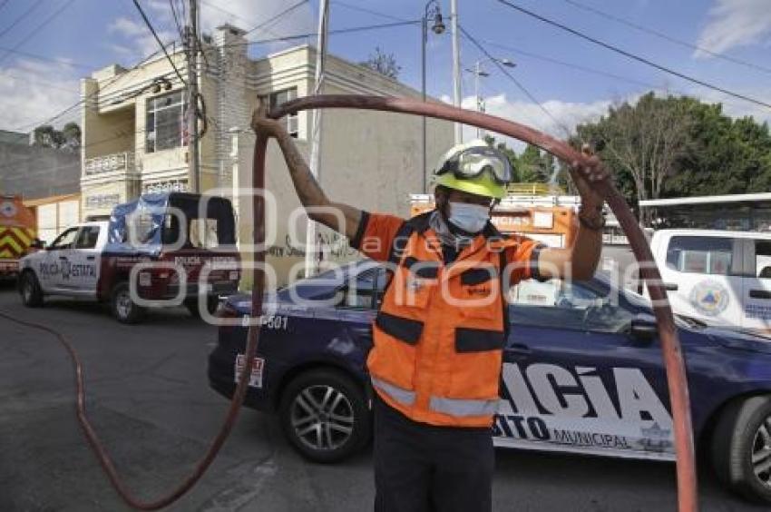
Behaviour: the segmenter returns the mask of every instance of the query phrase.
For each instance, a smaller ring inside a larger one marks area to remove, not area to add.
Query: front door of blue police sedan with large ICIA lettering
[[[672,458],[659,346],[602,288],[557,284],[551,305],[514,304],[496,444]]]

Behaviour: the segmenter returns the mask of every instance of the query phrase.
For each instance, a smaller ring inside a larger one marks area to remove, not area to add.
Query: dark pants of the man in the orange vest
[[[374,409],[375,512],[492,511],[490,428],[417,423],[377,397]]]

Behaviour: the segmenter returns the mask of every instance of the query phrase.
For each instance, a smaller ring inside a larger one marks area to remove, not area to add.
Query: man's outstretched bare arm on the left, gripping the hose
[[[259,105],[252,117],[252,128],[268,137],[274,137],[289,168],[289,176],[298,192],[300,203],[306,208],[307,216],[316,222],[342,233],[353,239],[356,234],[362,212],[353,206],[342,202],[329,201],[327,194],[310,172],[307,163],[299,153],[294,139],[287,133],[281,123],[268,119],[263,105]],[[341,224],[342,222],[342,224]]]

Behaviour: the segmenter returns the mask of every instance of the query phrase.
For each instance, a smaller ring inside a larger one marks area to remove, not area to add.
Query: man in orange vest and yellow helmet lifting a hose
[[[579,231],[572,247],[554,249],[493,227],[512,166],[483,142],[446,153],[434,172],[434,211],[404,220],[330,200],[280,123],[258,109],[252,124],[278,142],[308,217],[390,269],[367,358],[376,512],[491,510],[504,295],[525,279],[590,279],[604,225],[591,183],[607,172],[596,158],[572,163]]]

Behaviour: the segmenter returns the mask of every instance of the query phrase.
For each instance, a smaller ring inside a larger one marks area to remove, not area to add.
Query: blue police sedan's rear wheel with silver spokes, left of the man
[[[314,462],[337,462],[369,440],[364,389],[334,369],[314,369],[289,382],[278,413],[288,441]]]

